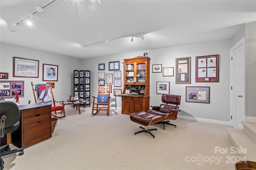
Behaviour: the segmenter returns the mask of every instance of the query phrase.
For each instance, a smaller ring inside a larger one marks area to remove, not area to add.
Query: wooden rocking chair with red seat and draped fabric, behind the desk
[[[31,82],[31,86],[32,86],[34,99],[36,103],[52,104],[53,117],[57,117],[57,118],[66,117],[65,109],[64,109],[64,101],[57,102],[54,99],[51,82],[47,84],[33,84],[33,82]],[[56,106],[56,103],[60,103],[62,104],[62,106]]]

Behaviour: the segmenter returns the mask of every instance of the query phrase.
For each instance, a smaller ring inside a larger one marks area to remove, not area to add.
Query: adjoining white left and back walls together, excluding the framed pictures
[[[206,43],[197,43],[182,45],[177,47],[168,47],[162,49],[153,49],[146,51],[151,58],[150,62],[150,105],[159,105],[161,95],[156,94],[157,81],[170,81],[170,93],[182,96],[180,105],[180,117],[196,118],[200,121],[209,121],[214,123],[229,124],[230,122],[230,44],[231,40],[213,41]],[[42,64],[54,64],[59,66],[58,82],[55,82],[54,96],[57,100],[66,100],[70,94],[73,94],[73,70],[90,70],[91,71],[91,96],[97,94],[98,89],[98,64],[105,63],[106,74],[113,73],[108,71],[109,61],[120,61],[120,70],[122,71],[123,82],[123,59],[133,58],[143,55],[145,51],[135,53],[126,53],[97,57],[91,59],[77,59],[64,55],[48,53],[16,45],[1,43],[0,53],[0,72],[8,72],[8,80],[24,80],[24,98],[20,98],[20,104],[28,104],[31,100],[34,103],[34,97],[30,82],[42,82]],[[219,55],[219,82],[204,83],[195,82],[195,60],[197,56]],[[39,78],[19,78],[12,77],[12,60],[13,57],[27,59],[36,59],[40,61]],[[175,58],[191,57],[191,84],[175,84],[174,77],[163,77],[162,73],[152,73],[152,64],[162,64],[162,67],[174,67]],[[100,71],[102,72],[102,71]],[[210,86],[210,104],[186,102],[186,86]],[[112,85],[112,91],[114,87]],[[111,94],[111,107],[121,109],[121,98]],[[92,98],[91,98],[92,99]],[[13,101],[13,99],[7,99]],[[92,103],[92,101],[90,101]]]

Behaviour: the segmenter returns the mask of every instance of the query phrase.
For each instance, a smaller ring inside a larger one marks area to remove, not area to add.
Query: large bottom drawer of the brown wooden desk
[[[24,125],[23,143],[30,146],[51,137],[51,119]]]

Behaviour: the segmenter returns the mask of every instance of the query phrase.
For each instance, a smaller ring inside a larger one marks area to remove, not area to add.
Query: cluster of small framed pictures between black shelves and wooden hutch
[[[105,63],[98,64],[98,70],[105,70]],[[122,72],[120,71],[120,61],[108,62],[108,70],[114,71],[113,74],[105,74],[105,72],[98,72],[98,81],[100,82],[100,86],[105,86],[105,84],[106,86],[109,86],[109,84],[111,84],[110,93],[112,93],[112,84],[114,85],[114,87],[122,87]],[[114,89],[114,96],[118,96],[118,94],[122,94],[122,90]]]

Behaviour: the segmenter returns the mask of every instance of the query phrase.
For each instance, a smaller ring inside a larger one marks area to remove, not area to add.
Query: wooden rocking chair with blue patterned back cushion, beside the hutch
[[[109,106],[110,106],[110,84],[109,86],[100,86],[98,87],[98,96],[92,96],[93,97],[93,104],[92,104],[92,115],[96,115],[99,113],[100,110],[106,110],[108,111],[109,115]],[[97,99],[95,101],[95,99]],[[94,110],[96,111],[95,113]]]

